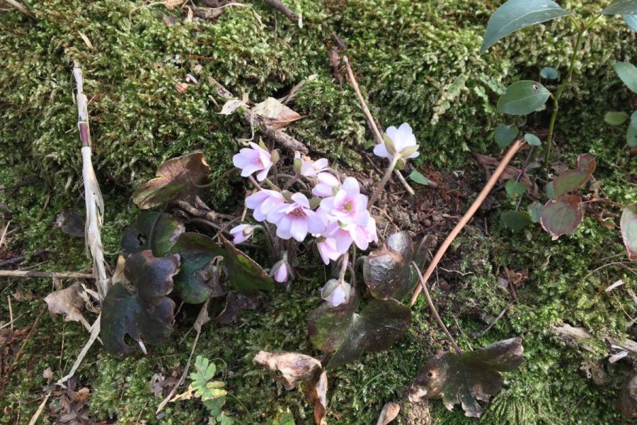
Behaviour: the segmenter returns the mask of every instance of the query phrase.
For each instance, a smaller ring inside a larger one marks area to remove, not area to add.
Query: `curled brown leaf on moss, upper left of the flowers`
[[[197,193],[197,186],[205,183],[210,166],[202,152],[168,159],[159,166],[156,178],[134,191],[132,200],[142,210]]]

